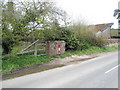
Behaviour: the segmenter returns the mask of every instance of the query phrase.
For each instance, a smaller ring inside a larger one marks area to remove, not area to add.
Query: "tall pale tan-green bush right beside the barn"
[[[94,30],[91,30],[87,25],[74,24],[70,27],[70,30],[80,41],[81,49],[87,49],[90,46],[105,46],[105,41],[102,38],[96,37]]]

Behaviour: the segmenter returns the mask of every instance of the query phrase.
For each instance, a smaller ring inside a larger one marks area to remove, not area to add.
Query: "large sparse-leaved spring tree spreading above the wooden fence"
[[[19,41],[44,40],[43,30],[52,30],[55,20],[64,22],[66,19],[66,13],[53,2],[4,2],[1,6],[5,54],[10,53]]]

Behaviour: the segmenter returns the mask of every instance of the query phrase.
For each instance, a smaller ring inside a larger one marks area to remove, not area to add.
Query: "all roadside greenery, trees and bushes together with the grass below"
[[[67,14],[53,2],[2,2],[3,54],[20,52],[25,45],[40,39],[42,42],[64,40],[66,53],[59,57],[111,51],[117,47],[104,47],[91,28],[82,23],[69,24]],[[61,25],[61,23],[63,23]],[[93,30],[94,31],[94,30]],[[26,44],[27,43],[27,44]],[[25,44],[25,45],[24,45]],[[41,52],[39,52],[41,53]],[[13,70],[53,60],[50,56],[32,56],[32,53],[4,57],[3,74]]]

